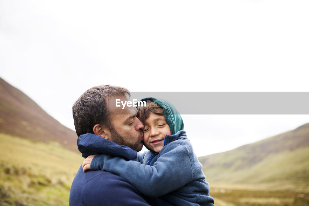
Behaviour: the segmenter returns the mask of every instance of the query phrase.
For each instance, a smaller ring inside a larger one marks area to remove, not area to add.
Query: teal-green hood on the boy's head
[[[141,99],[140,101],[146,100],[154,101],[163,108],[165,121],[171,128],[171,135],[175,135],[178,131],[184,129],[184,121],[182,121],[182,118],[174,105],[172,105],[166,100],[153,97],[146,97]]]

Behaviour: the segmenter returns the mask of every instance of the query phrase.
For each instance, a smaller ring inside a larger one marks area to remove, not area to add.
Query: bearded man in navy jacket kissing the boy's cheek
[[[136,158],[143,147],[144,125],[136,117],[136,107],[122,109],[115,104],[116,99],[125,102],[129,98],[125,88],[102,85],[88,89],[74,103],[74,125],[83,157],[103,153],[127,160]],[[97,136],[82,135],[86,133]],[[81,166],[72,182],[69,205],[144,206],[149,205],[147,201],[125,179],[105,171],[83,172]]]

